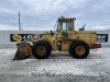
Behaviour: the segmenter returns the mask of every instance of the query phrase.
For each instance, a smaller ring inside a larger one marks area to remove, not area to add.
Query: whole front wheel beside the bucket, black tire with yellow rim
[[[32,54],[37,59],[46,59],[52,51],[51,45],[46,40],[38,40],[33,45]]]

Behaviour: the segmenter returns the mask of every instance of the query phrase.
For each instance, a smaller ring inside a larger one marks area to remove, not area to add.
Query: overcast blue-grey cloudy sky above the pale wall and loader
[[[76,17],[76,30],[110,30],[110,0],[0,0],[0,31],[54,30],[58,16]]]

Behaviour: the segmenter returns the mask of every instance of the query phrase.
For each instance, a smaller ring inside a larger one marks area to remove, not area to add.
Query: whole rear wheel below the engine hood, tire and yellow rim
[[[77,59],[84,59],[89,55],[89,45],[82,40],[77,40],[72,44],[69,54]]]

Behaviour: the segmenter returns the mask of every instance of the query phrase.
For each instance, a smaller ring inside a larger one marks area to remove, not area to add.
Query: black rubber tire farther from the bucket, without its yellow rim
[[[76,49],[77,46],[82,46],[85,48],[85,54],[84,55],[80,56],[80,55],[76,54],[75,49]],[[82,40],[76,40],[70,45],[69,54],[76,59],[85,59],[89,55],[89,50],[90,50],[90,48],[89,48],[88,44],[86,44]]]

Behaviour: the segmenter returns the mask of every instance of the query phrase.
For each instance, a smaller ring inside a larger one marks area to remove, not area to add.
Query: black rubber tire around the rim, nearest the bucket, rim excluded
[[[36,54],[36,47],[38,47],[41,45],[46,48],[46,52],[43,56],[40,56],[38,54]],[[52,47],[46,40],[38,40],[35,44],[33,44],[32,54],[36,59],[46,59],[46,58],[48,58],[48,56],[51,55],[51,51],[52,51]]]

